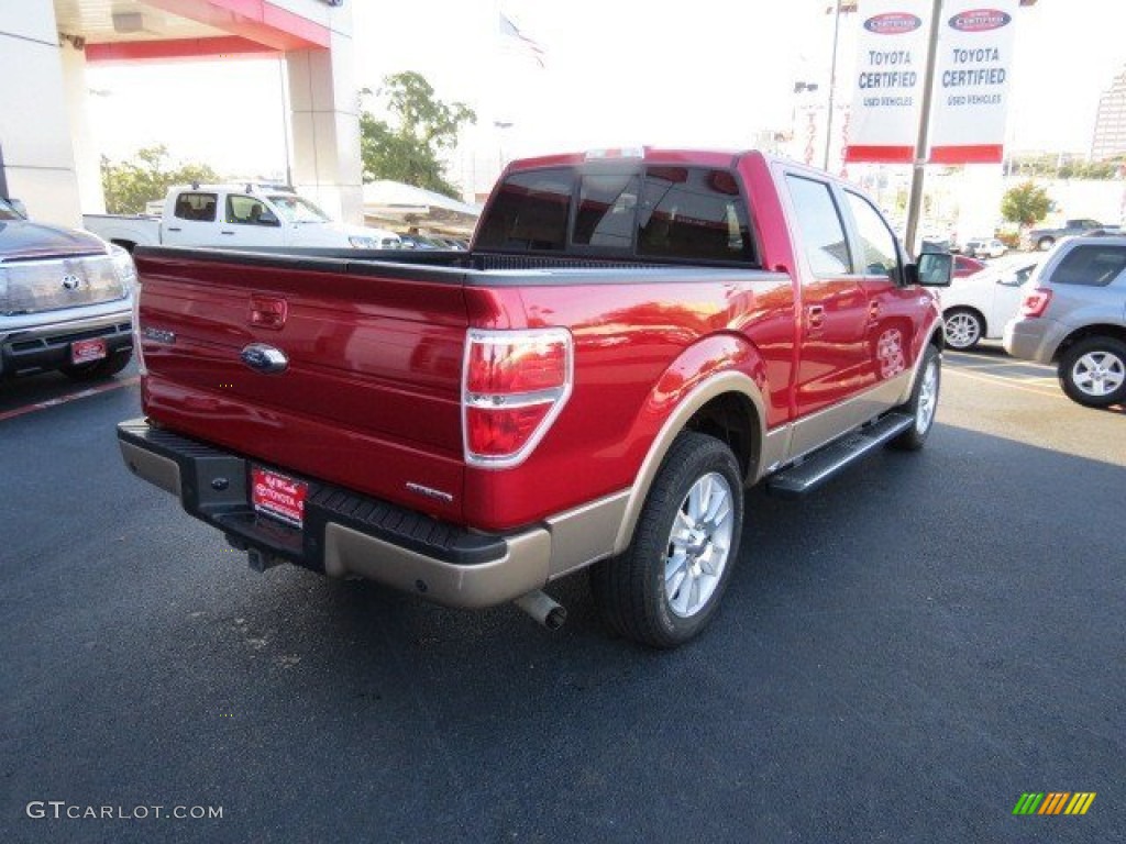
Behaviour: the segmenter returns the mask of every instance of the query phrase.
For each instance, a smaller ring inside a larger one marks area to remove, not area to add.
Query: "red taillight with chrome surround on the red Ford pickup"
[[[566,403],[572,369],[565,329],[470,330],[462,376],[466,461],[521,463]]]

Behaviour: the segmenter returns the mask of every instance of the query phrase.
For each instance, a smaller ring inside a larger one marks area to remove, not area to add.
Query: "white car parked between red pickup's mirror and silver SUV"
[[[981,261],[975,263],[984,269],[971,276],[955,273],[950,286],[939,294],[946,344],[959,351],[972,349],[980,340],[1002,336],[1006,323],[1016,316],[1020,307],[1021,286],[1033,275],[1037,260],[1025,260],[998,269]]]

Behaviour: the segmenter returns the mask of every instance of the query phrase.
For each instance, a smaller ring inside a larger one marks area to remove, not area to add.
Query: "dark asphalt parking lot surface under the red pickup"
[[[75,395],[0,385],[0,841],[1124,839],[1126,412],[1045,367],[947,353],[922,452],[753,491],[673,653],[583,577],[552,634],[250,572],[122,467],[129,370]]]

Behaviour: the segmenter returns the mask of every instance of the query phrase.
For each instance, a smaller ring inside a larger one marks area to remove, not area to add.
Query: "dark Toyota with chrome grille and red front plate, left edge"
[[[0,199],[0,377],[119,372],[133,354],[135,286],[125,250]]]

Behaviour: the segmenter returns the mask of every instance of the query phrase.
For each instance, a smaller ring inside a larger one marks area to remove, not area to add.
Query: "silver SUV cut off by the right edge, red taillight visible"
[[[1060,386],[1080,404],[1126,402],[1126,236],[1056,244],[1004,326],[1004,350],[1056,363]]]

